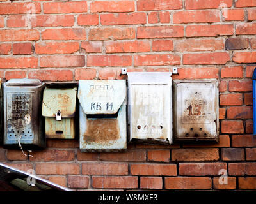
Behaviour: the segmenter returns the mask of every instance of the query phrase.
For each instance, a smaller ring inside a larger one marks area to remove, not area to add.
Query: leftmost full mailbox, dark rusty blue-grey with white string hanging
[[[11,79],[3,85],[4,141],[7,147],[45,147],[42,90],[37,79]]]

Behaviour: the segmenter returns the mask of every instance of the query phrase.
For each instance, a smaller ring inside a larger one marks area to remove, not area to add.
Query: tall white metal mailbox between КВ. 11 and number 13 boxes
[[[128,73],[130,141],[172,143],[172,73]]]

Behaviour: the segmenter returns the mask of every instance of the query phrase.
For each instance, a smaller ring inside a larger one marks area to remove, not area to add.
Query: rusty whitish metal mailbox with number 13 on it
[[[218,80],[173,80],[173,93],[175,140],[218,142]]]

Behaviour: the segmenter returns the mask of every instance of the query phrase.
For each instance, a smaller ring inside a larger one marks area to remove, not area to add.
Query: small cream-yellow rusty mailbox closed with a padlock
[[[51,84],[44,89],[42,115],[46,138],[73,139],[76,134],[75,113],[77,87]]]

